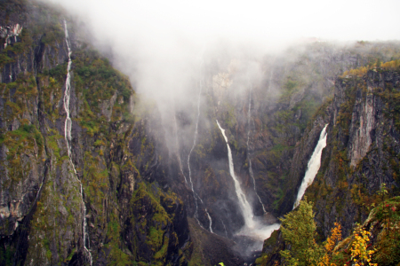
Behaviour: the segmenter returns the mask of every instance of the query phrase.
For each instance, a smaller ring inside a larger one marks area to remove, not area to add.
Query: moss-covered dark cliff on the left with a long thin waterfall
[[[2,8],[1,264],[186,264],[187,215],[154,104],[139,104],[65,14]]]

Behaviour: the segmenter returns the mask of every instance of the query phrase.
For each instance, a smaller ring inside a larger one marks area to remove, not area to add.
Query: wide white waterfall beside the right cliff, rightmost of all
[[[314,153],[311,155],[311,158],[308,161],[307,171],[304,175],[303,181],[301,182],[299,192],[297,193],[297,199],[293,204],[293,209],[299,206],[301,198],[303,198],[303,195],[306,192],[308,186],[313,183],[314,178],[316,177],[316,173],[321,166],[321,155],[324,147],[326,146],[327,126],[328,124],[326,124],[324,129],[322,129],[318,143],[316,144],[316,149],[314,150]]]

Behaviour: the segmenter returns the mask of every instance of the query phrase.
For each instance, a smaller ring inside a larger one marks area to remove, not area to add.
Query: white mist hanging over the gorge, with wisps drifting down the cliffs
[[[71,14],[67,20],[75,20],[84,38],[131,78],[140,98],[156,100],[169,151],[177,149],[174,134],[179,131],[181,161],[193,145],[197,102],[202,103],[199,109],[204,112],[207,90],[212,91],[217,116],[220,102],[228,98],[247,106],[244,100],[249,98],[251,86],[257,98],[254,108],[262,103],[268,109],[279,96],[283,85],[279,82],[292,67],[288,62],[297,60],[304,43],[343,45],[392,40],[400,35],[396,13],[400,2],[396,0],[380,4],[344,0],[44,1],[61,5]],[[311,58],[324,57],[324,49]],[[336,74],[340,69],[334,70]],[[301,71],[308,70],[299,66],[298,74]],[[315,74],[308,74],[308,79],[312,77]],[[317,91],[321,86],[312,89],[324,98],[324,92]],[[181,120],[188,122],[173,129],[177,113],[183,113]],[[215,121],[204,124],[212,127]]]

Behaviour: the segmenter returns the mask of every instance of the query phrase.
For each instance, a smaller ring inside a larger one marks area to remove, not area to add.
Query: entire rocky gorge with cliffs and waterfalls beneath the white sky
[[[355,223],[400,262],[399,42],[220,43],[159,74],[60,6],[1,8],[0,265],[284,265],[305,198],[337,263]]]

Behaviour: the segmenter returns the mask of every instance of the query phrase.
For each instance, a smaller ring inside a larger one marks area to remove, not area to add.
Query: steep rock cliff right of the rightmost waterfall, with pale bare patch
[[[369,213],[381,184],[398,194],[399,74],[380,68],[338,79],[328,126],[328,145],[316,183],[316,222],[324,236],[339,219],[348,235]]]

